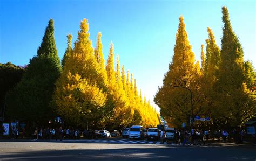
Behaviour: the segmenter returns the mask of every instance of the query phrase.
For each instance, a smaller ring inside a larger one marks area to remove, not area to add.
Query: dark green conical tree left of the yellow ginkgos
[[[61,73],[52,19],[37,51],[37,56],[30,59],[21,82],[9,93],[7,112],[11,118],[46,124],[55,115],[51,105],[52,94]]]

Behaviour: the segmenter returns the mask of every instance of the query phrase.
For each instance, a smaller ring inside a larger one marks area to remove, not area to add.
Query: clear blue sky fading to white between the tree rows
[[[173,55],[178,18],[184,16],[196,59],[210,26],[220,46],[221,7],[227,6],[233,30],[244,48],[245,60],[256,66],[255,1],[0,1],[0,62],[29,63],[41,44],[48,20],[55,21],[55,40],[62,59],[66,35],[77,38],[80,20],[87,18],[95,45],[102,32],[105,61],[110,41],[125,70],[133,73],[137,87],[153,103]]]

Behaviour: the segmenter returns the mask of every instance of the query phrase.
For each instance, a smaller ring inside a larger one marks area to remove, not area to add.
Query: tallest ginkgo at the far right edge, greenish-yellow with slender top
[[[222,8],[223,37],[221,38],[221,62],[217,74],[216,100],[219,118],[223,124],[240,127],[255,116],[255,95],[247,88],[244,51],[234,33],[228,10]]]

